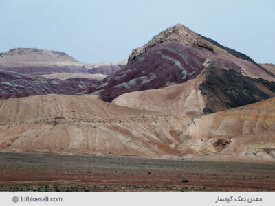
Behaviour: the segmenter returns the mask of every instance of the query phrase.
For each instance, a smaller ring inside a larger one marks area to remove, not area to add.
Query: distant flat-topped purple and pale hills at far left
[[[124,63],[89,65],[64,52],[11,49],[0,54],[0,98],[72,93],[118,71]]]

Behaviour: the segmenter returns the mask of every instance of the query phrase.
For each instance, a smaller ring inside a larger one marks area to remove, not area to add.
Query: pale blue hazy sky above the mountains
[[[275,1],[0,0],[0,52],[54,49],[82,62],[120,62],[167,27],[191,30],[275,63]]]

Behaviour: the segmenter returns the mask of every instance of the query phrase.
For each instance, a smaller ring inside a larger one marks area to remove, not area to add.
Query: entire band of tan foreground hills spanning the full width
[[[94,95],[0,100],[1,151],[275,158],[275,98],[190,117],[117,106]]]

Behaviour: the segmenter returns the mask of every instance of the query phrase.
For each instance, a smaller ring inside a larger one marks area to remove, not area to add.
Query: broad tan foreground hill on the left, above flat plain
[[[36,95],[0,104],[1,150],[116,155],[168,155],[173,150],[148,133],[151,126],[142,127],[157,113],[94,100],[93,95]]]

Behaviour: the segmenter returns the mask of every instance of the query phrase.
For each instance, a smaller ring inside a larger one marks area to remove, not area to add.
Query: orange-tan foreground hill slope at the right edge
[[[263,100],[198,117],[183,134],[186,140],[192,139],[190,148],[202,153],[274,159],[274,111],[275,98]],[[179,148],[186,148],[186,141]]]

